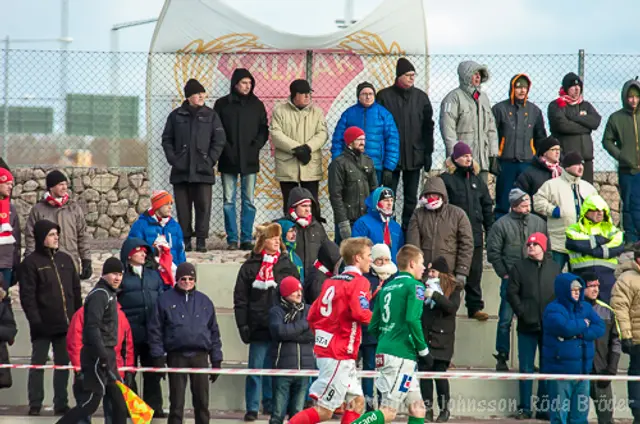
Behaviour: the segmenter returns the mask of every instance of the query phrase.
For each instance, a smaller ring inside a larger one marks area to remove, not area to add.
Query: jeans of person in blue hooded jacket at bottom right
[[[549,380],[551,424],[586,423],[589,416],[589,382]]]

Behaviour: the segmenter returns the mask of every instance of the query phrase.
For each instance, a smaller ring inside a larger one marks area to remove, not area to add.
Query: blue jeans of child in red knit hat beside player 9
[[[269,424],[282,424],[285,415],[293,417],[304,408],[309,387],[307,377],[273,377],[273,413]]]

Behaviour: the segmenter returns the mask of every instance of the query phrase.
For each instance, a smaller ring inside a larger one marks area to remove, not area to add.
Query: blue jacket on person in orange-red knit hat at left
[[[167,225],[163,227],[154,217],[149,215],[149,211],[146,211],[141,214],[138,220],[131,226],[129,238],[141,238],[146,241],[149,246],[153,246],[156,238],[161,234],[165,236],[169,246],[171,246],[173,263],[180,265],[182,262],[186,262],[187,256],[184,253],[184,236],[182,235],[182,229],[178,221],[173,218],[170,218]]]

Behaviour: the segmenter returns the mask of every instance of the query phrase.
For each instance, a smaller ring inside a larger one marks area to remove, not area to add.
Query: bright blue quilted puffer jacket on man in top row
[[[364,130],[364,151],[373,159],[376,171],[395,171],[400,161],[400,136],[393,115],[378,103],[368,108],[356,103],[342,113],[331,140],[331,158],[342,153],[345,147],[342,136],[347,128],[354,126]]]

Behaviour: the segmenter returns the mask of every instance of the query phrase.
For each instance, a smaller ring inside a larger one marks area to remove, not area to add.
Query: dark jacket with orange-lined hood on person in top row
[[[520,78],[529,82],[531,90],[531,79],[527,75],[515,75],[509,84],[509,98],[492,108],[498,131],[498,155],[510,162],[530,161],[536,154],[538,142],[547,137],[542,111],[529,101],[529,93],[524,101],[515,98],[514,86]]]

